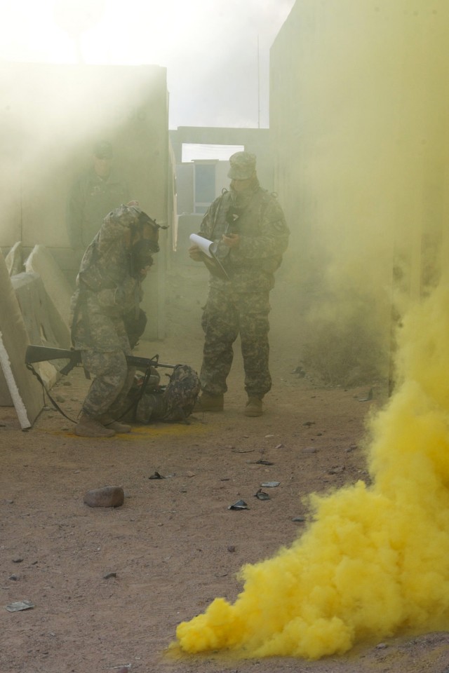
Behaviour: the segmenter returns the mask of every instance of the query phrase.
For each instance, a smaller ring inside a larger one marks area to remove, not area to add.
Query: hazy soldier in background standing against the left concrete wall
[[[93,164],[72,185],[67,200],[67,233],[73,250],[81,254],[98,233],[105,213],[128,203],[128,184],[113,165],[112,144],[105,140],[93,147]]]

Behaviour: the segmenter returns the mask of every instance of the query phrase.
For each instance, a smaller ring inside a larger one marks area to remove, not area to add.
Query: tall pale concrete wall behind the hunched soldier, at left
[[[114,163],[133,196],[158,222],[173,225],[166,69],[156,66],[3,64],[0,83],[0,246],[26,255],[45,245],[74,282],[65,208],[74,177],[91,165],[97,140],[114,144]],[[105,213],[106,215],[106,213]],[[173,227],[146,281],[148,338],[163,337],[164,277]]]

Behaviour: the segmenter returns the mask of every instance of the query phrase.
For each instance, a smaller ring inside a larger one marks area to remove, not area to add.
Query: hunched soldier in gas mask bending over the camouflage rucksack
[[[105,217],[83,255],[72,297],[74,347],[95,377],[75,427],[77,435],[86,437],[111,437],[131,429],[115,421],[135,375],[126,362],[131,349],[123,317],[135,307],[137,318],[141,283],[151,254],[159,250],[158,225],[150,225],[133,203]]]

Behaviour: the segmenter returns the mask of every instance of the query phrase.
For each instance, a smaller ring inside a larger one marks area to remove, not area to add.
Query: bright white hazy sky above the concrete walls
[[[269,126],[269,49],[295,0],[2,3],[0,63],[167,68],[170,128]]]

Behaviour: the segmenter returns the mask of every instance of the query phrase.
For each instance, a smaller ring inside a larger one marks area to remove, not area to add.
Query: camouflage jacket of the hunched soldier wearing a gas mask
[[[77,343],[88,341],[87,328],[86,339],[82,337],[83,325],[86,327],[89,322],[93,325],[97,319],[101,322],[101,316],[106,318],[105,324],[121,320],[142,299],[140,280],[130,275],[128,250],[123,239],[135,221],[132,209],[126,205],[116,208],[105,217],[83,255],[72,297]]]

